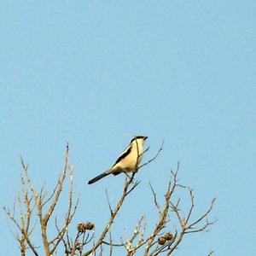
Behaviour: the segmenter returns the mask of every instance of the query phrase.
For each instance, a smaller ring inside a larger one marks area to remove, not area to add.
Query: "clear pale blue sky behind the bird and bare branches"
[[[87,181],[144,134],[145,160],[163,139],[165,147],[137,174],[141,183],[117,218],[120,236],[143,213],[157,219],[148,182],[164,195],[179,160],[198,212],[217,197],[218,222],[188,236],[176,255],[253,255],[255,11],[253,1],[2,3],[1,205],[11,207],[19,189],[20,154],[35,183],[50,189],[68,142],[76,220],[100,229],[108,219],[105,189],[116,201],[124,177]],[[0,245],[11,244],[3,212],[0,220]],[[1,247],[18,253],[18,245]]]

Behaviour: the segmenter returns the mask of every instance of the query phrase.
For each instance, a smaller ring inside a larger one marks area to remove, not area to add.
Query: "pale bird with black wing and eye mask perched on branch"
[[[124,152],[119,155],[113,166],[107,171],[102,172],[100,175],[90,179],[88,184],[96,183],[102,177],[109,174],[114,176],[121,172],[137,172],[137,166],[143,158],[143,145],[148,137],[138,135],[131,139],[131,143],[125,148]]]

